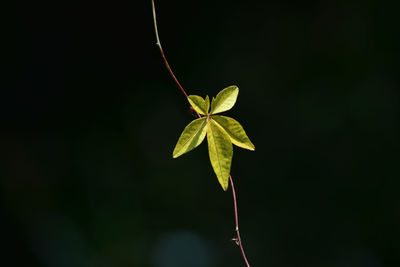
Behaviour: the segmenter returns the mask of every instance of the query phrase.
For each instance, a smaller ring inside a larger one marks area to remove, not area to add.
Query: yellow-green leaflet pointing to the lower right
[[[255,149],[253,143],[250,141],[242,125],[240,125],[238,121],[221,115],[212,116],[212,119],[224,128],[233,144],[248,150]]]

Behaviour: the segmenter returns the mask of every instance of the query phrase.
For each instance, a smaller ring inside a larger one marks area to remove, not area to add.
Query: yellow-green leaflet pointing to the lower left
[[[189,123],[179,137],[174,152],[172,152],[172,157],[177,158],[200,145],[206,136],[207,125],[208,123],[206,117],[196,119]]]

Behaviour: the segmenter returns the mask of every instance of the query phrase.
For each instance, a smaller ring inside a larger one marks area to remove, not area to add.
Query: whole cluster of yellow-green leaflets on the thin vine
[[[208,96],[205,99],[196,95],[188,96],[190,105],[204,117],[196,119],[186,126],[172,153],[172,156],[177,158],[189,152],[200,145],[207,135],[211,166],[225,191],[228,189],[232,165],[232,144],[248,150],[255,149],[239,122],[226,116],[214,115],[230,110],[235,105],[238,93],[237,86],[223,89],[215,98],[213,97],[210,112]]]

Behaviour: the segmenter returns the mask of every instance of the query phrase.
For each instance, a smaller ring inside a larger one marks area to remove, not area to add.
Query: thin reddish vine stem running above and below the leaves
[[[151,0],[151,4],[152,4],[152,7],[153,7],[154,31],[155,31],[155,33],[156,33],[157,46],[158,46],[158,48],[160,49],[161,56],[162,56],[162,58],[163,58],[163,60],[164,60],[165,66],[167,67],[169,73],[171,74],[171,77],[174,79],[176,85],[178,85],[178,87],[179,87],[179,89],[181,90],[181,92],[182,92],[182,93],[185,95],[185,97],[187,98],[187,97],[188,97],[188,94],[186,93],[185,89],[183,89],[182,85],[180,84],[180,82],[179,82],[178,79],[176,78],[174,72],[173,72],[172,69],[171,69],[171,66],[170,66],[169,63],[168,63],[167,58],[165,57],[164,51],[163,51],[162,46],[161,46],[160,37],[158,36],[157,16],[156,16],[156,8],[155,8],[155,5],[154,5],[154,0]],[[197,112],[196,112],[196,113],[197,113]],[[197,116],[198,116],[199,118],[201,117],[199,113],[197,113]],[[238,211],[237,211],[236,192],[235,192],[235,186],[233,185],[233,179],[232,179],[232,176],[231,176],[231,175],[229,175],[229,181],[230,181],[230,183],[231,183],[232,195],[233,195],[233,206],[234,206],[234,210],[235,210],[235,224],[236,224],[235,232],[236,232],[236,238],[235,238],[234,240],[236,241],[236,244],[240,247],[240,251],[242,252],[242,256],[243,256],[243,259],[244,259],[244,261],[245,261],[245,263],[246,263],[246,266],[247,266],[247,267],[250,267],[250,264],[249,264],[249,262],[247,261],[246,254],[245,254],[244,249],[243,249],[242,239],[240,238],[240,232],[239,232],[239,216],[238,216]]]

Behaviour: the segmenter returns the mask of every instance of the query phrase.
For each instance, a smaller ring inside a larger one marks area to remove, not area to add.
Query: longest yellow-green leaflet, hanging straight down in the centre
[[[211,166],[217,175],[222,189],[228,189],[229,174],[231,171],[233,148],[229,135],[212,119],[209,119],[207,128],[208,153]]]

